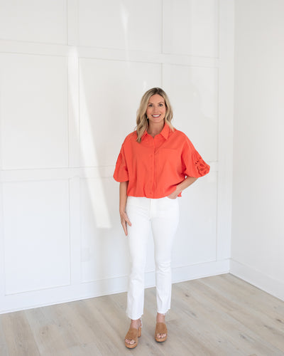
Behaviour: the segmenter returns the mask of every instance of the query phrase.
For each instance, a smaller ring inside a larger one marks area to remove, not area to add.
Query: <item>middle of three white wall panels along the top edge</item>
[[[79,44],[160,53],[162,0],[80,0]]]

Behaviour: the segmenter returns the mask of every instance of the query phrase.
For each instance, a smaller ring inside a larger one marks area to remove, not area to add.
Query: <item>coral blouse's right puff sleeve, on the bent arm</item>
[[[182,173],[187,177],[203,177],[209,173],[210,166],[204,162],[192,142],[187,137],[186,139],[182,150]]]

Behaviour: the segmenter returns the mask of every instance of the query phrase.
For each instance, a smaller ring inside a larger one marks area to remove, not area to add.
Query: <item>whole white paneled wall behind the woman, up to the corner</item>
[[[233,14],[232,0],[0,0],[0,313],[126,290],[112,174],[153,86],[211,165],[180,199],[173,281],[229,271]],[[149,239],[147,286],[154,267]]]

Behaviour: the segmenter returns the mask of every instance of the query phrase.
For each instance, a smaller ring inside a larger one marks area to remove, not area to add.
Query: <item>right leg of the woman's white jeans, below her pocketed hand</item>
[[[158,313],[170,309],[172,293],[171,256],[179,221],[179,202],[167,197],[153,201],[151,225],[155,245],[155,284]]]

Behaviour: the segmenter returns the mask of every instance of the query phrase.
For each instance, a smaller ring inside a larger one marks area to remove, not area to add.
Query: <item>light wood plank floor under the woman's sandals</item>
[[[155,342],[155,288],[129,350],[126,293],[0,315],[1,356],[284,355],[284,302],[231,274],[173,284],[168,340]]]

